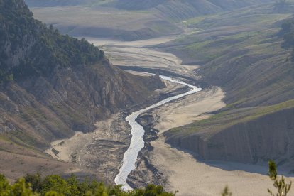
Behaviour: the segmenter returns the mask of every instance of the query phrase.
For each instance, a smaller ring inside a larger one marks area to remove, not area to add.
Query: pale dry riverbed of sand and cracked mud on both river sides
[[[103,45],[102,49],[114,65],[159,68],[194,79],[199,78],[195,72],[195,69],[199,68],[196,65],[180,65],[182,61],[175,55],[143,47],[164,43],[170,39],[173,38],[129,43],[89,40],[95,45]],[[177,89],[183,88],[171,83],[167,86],[167,89],[159,90],[158,94],[176,92]],[[211,87],[146,114],[153,116],[155,121],[152,126],[159,131],[158,138],[154,140],[156,136],[153,137],[150,143],[153,149],[146,149],[148,156],[143,156],[145,159],[138,161],[138,168],[131,175],[130,181],[143,178],[150,182],[160,180],[160,184],[165,185],[168,190],[179,190],[178,195],[220,195],[226,185],[229,185],[234,195],[268,195],[267,188],[272,187],[272,183],[266,175],[266,167],[201,162],[191,153],[172,148],[165,143],[164,131],[208,118],[211,116],[210,112],[225,106],[222,102],[224,96],[222,89]],[[114,114],[110,119],[98,122],[93,133],[77,133],[73,138],[53,143],[53,148],[59,151],[58,158],[75,162],[89,170],[96,170],[102,176],[107,173],[104,178],[113,183],[131,139],[130,127],[124,117],[125,114]],[[293,178],[291,180],[294,181]]]

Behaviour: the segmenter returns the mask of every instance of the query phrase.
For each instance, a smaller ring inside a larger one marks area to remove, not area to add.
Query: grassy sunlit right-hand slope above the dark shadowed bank
[[[184,60],[202,65],[202,80],[221,86],[227,107],[210,119],[169,131],[169,136],[198,133],[210,138],[240,122],[294,107],[294,67],[277,34],[290,13],[272,5],[207,18],[191,18],[200,32],[161,45]]]

